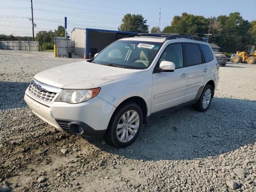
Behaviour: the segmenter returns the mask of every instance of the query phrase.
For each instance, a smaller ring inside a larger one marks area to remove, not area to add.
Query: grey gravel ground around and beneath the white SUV
[[[158,116],[116,149],[59,132],[23,100],[34,74],[76,61],[0,50],[1,192],[256,191],[256,65],[221,67],[207,112]]]

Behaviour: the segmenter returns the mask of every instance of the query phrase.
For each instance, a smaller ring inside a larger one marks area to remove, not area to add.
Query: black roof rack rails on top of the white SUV
[[[191,40],[196,40],[196,41],[203,41],[204,38],[194,36],[194,35],[182,35],[182,34],[168,34],[168,33],[139,33],[139,34],[131,34],[128,36],[125,36],[124,38],[128,37],[135,37],[135,36],[152,36],[152,37],[166,37],[166,40],[171,40],[171,39],[176,39],[176,38],[184,38],[184,39],[191,39]]]

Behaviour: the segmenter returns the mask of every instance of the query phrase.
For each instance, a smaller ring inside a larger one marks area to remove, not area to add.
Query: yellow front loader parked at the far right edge
[[[237,51],[232,61],[234,63],[247,62],[248,64],[256,64],[256,46],[248,45],[245,47],[245,51]]]

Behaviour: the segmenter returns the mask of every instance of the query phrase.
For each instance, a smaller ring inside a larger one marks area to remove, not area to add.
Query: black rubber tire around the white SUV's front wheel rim
[[[125,114],[129,110],[134,110],[135,112],[137,112],[137,114],[139,116],[139,126],[138,126],[138,130],[137,130],[136,134],[133,136],[133,138],[131,140],[129,140],[128,142],[121,142],[120,140],[118,140],[118,136],[117,136],[117,133],[116,133],[117,125],[118,125],[122,115]],[[117,148],[127,147],[130,144],[132,144],[134,142],[134,140],[136,140],[136,138],[138,137],[138,134],[140,133],[142,124],[143,124],[142,110],[140,109],[140,107],[136,103],[128,103],[124,106],[120,106],[120,108],[118,108],[114,112],[112,118],[110,119],[110,123],[108,125],[108,129],[107,129],[107,132],[106,132],[106,140],[110,144],[112,144],[113,146],[115,146]]]

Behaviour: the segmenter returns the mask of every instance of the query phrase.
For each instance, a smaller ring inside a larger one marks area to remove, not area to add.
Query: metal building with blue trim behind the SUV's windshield
[[[86,58],[93,57],[112,42],[138,32],[126,32],[92,28],[74,28],[71,40],[75,42],[75,54]]]

